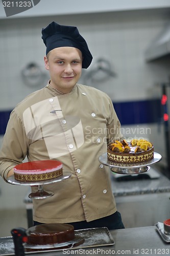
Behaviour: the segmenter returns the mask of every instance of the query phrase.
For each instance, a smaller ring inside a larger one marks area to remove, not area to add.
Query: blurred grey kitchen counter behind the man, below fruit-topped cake
[[[149,170],[145,174],[127,177],[111,173],[117,210],[126,228],[153,226],[169,218],[170,181],[155,172]],[[145,175],[152,176],[152,179]]]

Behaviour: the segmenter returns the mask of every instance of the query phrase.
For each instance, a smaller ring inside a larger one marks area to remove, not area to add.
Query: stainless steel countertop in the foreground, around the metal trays
[[[110,231],[115,244],[111,246],[93,247],[87,249],[67,249],[58,252],[43,253],[43,256],[56,256],[64,254],[91,254],[91,255],[169,255],[170,243],[161,239],[155,226],[117,229]],[[77,250],[77,251],[75,251]],[[79,251],[80,250],[80,251]],[[31,253],[30,255],[36,255]]]

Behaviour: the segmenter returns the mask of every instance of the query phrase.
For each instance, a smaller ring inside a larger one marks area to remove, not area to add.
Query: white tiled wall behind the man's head
[[[45,86],[47,79],[39,88],[28,87],[21,79],[21,70],[30,62],[38,63],[45,70],[45,46],[41,39],[41,29],[53,20],[60,24],[78,26],[88,42],[93,61],[101,57],[110,61],[112,69],[117,73],[116,78],[111,77],[104,82],[83,79],[83,82],[105,91],[112,100],[147,98],[148,87],[168,79],[170,61],[162,65],[162,62],[148,64],[144,60],[144,51],[170,20],[167,15],[159,12],[127,11],[3,19],[0,23],[0,109],[13,109],[22,98]],[[93,62],[90,68],[92,65]]]

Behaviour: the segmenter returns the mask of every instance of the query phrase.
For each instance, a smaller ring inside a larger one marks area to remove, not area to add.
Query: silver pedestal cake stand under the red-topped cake
[[[51,184],[55,182],[59,182],[62,180],[65,180],[71,176],[71,173],[63,174],[57,178],[50,179],[50,180],[44,180],[44,181],[18,181],[15,180],[14,175],[10,176],[8,178],[8,182],[14,185],[26,185],[26,186],[38,186],[38,190],[36,192],[33,192],[29,195],[29,198],[32,199],[43,199],[47,197],[52,197],[54,195],[53,191],[45,191],[43,189],[43,185]]]

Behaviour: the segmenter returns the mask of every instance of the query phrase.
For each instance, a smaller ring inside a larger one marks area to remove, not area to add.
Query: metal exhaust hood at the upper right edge
[[[170,24],[155,38],[145,52],[145,60],[152,61],[170,54]]]

